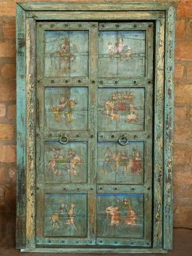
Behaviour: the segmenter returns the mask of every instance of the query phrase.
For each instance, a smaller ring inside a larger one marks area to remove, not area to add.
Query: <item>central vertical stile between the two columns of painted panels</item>
[[[97,168],[97,51],[98,23],[92,23],[89,30],[89,161],[88,161],[88,239],[90,244],[96,243],[96,168]]]

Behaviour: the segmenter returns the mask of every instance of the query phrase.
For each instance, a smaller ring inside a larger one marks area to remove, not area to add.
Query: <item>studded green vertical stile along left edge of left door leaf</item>
[[[37,123],[36,123],[36,195],[38,203],[36,205],[36,236],[38,242],[43,240],[43,218],[44,218],[44,86],[41,83],[44,72],[44,64],[42,56],[44,56],[44,29],[37,23],[37,42],[36,63],[37,63],[37,79],[36,79],[36,104],[37,104]]]

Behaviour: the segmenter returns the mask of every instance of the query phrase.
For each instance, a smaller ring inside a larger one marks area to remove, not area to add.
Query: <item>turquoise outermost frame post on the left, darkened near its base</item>
[[[26,81],[25,12],[16,6],[16,247],[25,248],[26,237]]]

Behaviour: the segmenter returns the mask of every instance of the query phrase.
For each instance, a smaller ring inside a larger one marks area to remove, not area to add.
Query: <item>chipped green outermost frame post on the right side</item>
[[[163,248],[173,246],[173,137],[174,137],[174,22],[175,9],[166,12],[165,51],[165,120],[164,120],[164,222]]]

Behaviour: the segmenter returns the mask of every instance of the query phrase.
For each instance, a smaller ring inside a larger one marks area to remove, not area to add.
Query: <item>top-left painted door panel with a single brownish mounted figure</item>
[[[88,76],[88,31],[44,31],[44,76]]]

